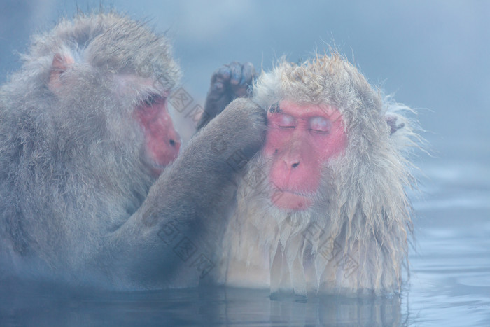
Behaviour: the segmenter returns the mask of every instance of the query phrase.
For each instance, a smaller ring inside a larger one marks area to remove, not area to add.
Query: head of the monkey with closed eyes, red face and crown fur
[[[332,171],[334,162],[350,162],[348,167],[358,169],[397,155],[379,92],[336,53],[301,65],[281,62],[260,76],[254,100],[267,110],[261,154],[267,162],[269,197],[284,211],[307,210],[318,202],[325,175],[332,181],[341,171],[356,174],[346,167]]]

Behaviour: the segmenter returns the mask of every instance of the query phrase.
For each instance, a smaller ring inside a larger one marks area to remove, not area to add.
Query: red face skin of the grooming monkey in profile
[[[165,97],[153,96],[141,104],[136,116],[144,129],[151,172],[158,176],[179,154],[181,138],[174,129]]]

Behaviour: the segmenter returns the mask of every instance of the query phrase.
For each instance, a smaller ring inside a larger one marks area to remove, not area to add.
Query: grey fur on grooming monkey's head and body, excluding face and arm
[[[57,54],[73,60],[59,97],[48,85]],[[165,36],[117,13],[64,19],[22,60],[0,90],[0,251],[85,270],[153,183],[132,114],[139,95],[170,92],[179,66]]]

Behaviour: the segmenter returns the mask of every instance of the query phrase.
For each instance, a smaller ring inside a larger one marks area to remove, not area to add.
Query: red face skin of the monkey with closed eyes
[[[288,211],[308,209],[308,195],[318,190],[323,163],[346,148],[342,116],[332,106],[283,100],[279,109],[269,109],[267,121],[262,153],[272,160],[272,202]]]

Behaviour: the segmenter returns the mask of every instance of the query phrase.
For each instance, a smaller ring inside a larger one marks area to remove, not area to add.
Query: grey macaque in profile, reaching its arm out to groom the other
[[[33,40],[0,89],[0,277],[196,286],[234,193],[226,161],[262,146],[265,112],[237,99],[176,159],[165,36],[99,13]]]

